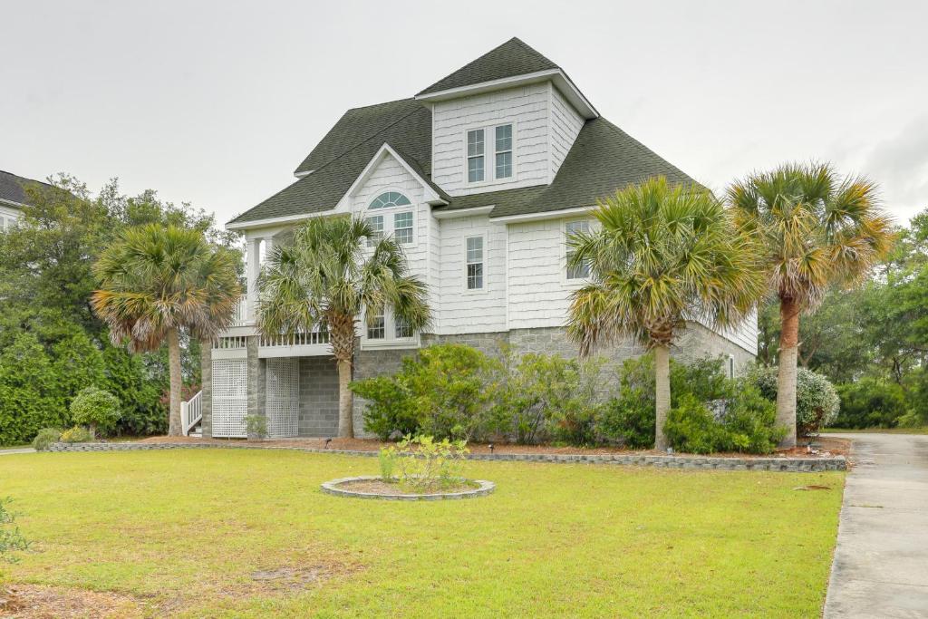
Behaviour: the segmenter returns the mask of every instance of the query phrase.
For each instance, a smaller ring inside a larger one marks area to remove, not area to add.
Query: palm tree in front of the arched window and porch
[[[363,219],[319,217],[296,229],[289,244],[271,252],[259,277],[258,327],[273,335],[324,326],[339,371],[339,436],[354,437],[348,383],[354,358],[354,325],[386,307],[413,330],[431,320],[425,284],[409,275],[393,238],[367,248],[376,231]]]

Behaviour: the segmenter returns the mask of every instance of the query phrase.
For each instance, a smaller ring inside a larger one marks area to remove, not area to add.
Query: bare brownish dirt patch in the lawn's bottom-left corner
[[[0,587],[0,617],[18,619],[97,619],[143,617],[138,600],[118,593],[70,587],[9,585]]]

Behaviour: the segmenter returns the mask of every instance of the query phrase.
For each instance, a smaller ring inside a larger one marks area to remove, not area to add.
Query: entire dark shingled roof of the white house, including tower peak
[[[511,64],[504,61],[507,58]],[[422,92],[549,68],[557,67],[513,38]],[[229,224],[298,218],[334,209],[385,143],[447,202],[435,207],[442,211],[493,205],[491,217],[547,213],[593,206],[617,188],[657,174],[664,174],[673,183],[695,183],[650,148],[599,117],[586,121],[550,185],[451,198],[432,182],[432,111],[415,98],[408,98],[345,112],[296,170],[297,174],[312,174]]]

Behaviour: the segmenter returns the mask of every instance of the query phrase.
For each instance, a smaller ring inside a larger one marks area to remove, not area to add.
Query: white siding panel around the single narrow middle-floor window
[[[489,217],[438,220],[441,223],[441,334],[506,330],[506,226]],[[467,290],[465,241],[484,237],[483,290]]]

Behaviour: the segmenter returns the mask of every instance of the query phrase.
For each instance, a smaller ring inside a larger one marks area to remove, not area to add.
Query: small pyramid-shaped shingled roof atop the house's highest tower
[[[469,62],[458,71],[446,75],[435,82],[419,95],[429,95],[450,88],[460,88],[473,84],[482,84],[493,80],[501,80],[516,75],[561,69],[548,58],[525,45],[516,37],[483,54],[480,58]]]

